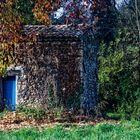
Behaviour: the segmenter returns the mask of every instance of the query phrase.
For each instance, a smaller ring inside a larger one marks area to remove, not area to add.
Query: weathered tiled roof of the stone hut
[[[26,25],[24,33],[26,35],[35,34],[44,37],[81,37],[88,27],[72,27],[68,25]]]

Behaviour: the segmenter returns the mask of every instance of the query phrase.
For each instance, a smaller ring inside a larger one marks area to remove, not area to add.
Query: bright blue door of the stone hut
[[[16,76],[3,79],[3,101],[6,109],[15,111],[16,108]]]

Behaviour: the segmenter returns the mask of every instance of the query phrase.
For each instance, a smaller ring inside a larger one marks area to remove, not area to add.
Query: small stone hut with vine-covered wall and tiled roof
[[[83,48],[87,43],[91,44],[91,40],[85,38],[92,36],[92,28],[27,25],[23,33],[27,37],[34,35],[35,42],[26,41],[24,47],[21,45],[18,50],[22,57],[17,81],[17,104],[48,108],[50,103],[65,107],[78,103],[84,80]],[[87,50],[85,55],[94,55],[94,49],[91,53],[90,49]],[[88,55],[87,59],[90,59]],[[95,72],[91,70],[91,73]],[[94,83],[88,85],[89,88],[95,86]],[[89,99],[94,98],[90,94],[88,96]]]

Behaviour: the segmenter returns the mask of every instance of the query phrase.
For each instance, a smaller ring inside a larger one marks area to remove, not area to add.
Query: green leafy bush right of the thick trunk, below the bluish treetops
[[[127,33],[124,36],[124,32],[119,32],[110,46],[100,47],[99,99],[106,103],[105,112],[139,119],[139,46],[128,40]]]

